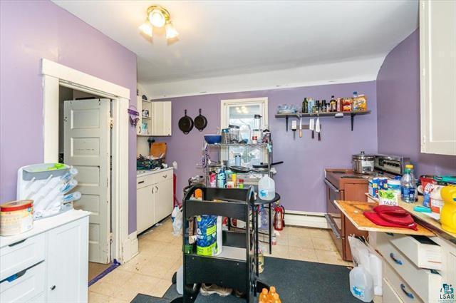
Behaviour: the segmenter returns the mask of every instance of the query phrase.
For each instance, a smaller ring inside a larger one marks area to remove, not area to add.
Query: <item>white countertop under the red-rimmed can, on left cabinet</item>
[[[68,210],[68,212],[63,212],[53,217],[46,217],[41,220],[33,221],[33,228],[31,230],[28,230],[28,232],[23,232],[19,235],[14,236],[0,236],[0,247],[14,244],[16,242],[25,240],[28,237],[33,237],[34,235],[52,230],[53,228],[76,221],[88,215],[90,215],[90,212],[86,212],[85,210]]]

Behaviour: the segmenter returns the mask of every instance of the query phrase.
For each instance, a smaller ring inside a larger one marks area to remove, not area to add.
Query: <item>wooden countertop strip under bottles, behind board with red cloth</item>
[[[366,192],[366,196],[375,202],[378,202],[378,198],[372,197]],[[413,210],[413,207],[418,206],[418,205],[423,205],[423,196],[419,195],[418,196],[418,202],[415,203],[407,203],[402,200],[399,201],[399,206],[403,207],[405,210],[408,210],[410,214],[415,218],[415,221],[420,224],[424,225],[428,229],[432,230],[433,232],[437,233],[437,235],[440,235],[441,237],[444,237],[445,239],[449,240],[452,243],[456,244],[456,234],[452,232],[447,232],[442,228],[442,225],[440,222],[435,220],[434,218],[430,217],[429,215],[426,215],[424,212],[415,212]]]

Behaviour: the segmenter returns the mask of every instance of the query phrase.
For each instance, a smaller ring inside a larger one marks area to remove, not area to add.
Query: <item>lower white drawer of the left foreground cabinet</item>
[[[28,302],[44,292],[45,263],[41,262],[25,270],[9,282],[0,283],[1,302]]]

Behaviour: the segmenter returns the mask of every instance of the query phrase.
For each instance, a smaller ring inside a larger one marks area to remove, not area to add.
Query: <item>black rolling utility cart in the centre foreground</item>
[[[192,199],[195,190],[202,190],[202,200]],[[202,283],[217,284],[244,292],[246,302],[254,302],[257,292],[263,287],[256,269],[257,226],[254,214],[254,191],[252,188],[206,188],[194,185],[183,200],[183,285],[182,297],[173,303],[195,302]],[[195,245],[188,245],[188,226],[192,217],[217,215],[236,218],[246,222],[243,232],[224,230],[223,249],[220,255],[210,257],[197,255]],[[253,228],[252,228],[253,227]]]

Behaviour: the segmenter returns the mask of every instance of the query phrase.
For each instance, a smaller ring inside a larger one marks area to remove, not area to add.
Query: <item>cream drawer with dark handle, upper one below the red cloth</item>
[[[416,267],[386,237],[388,236],[384,233],[377,236],[378,250],[386,262],[398,272],[400,277],[415,290],[423,301],[434,302],[437,300],[440,287],[442,287],[442,276],[430,269]]]

